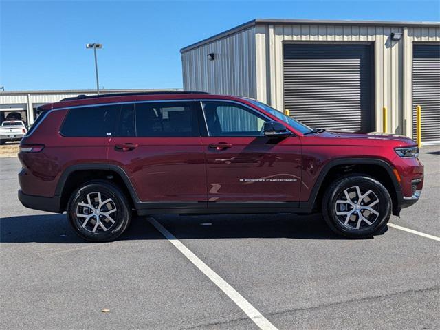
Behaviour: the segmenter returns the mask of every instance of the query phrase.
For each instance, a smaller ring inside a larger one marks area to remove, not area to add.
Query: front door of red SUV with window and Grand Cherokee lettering
[[[201,102],[208,133],[208,205],[212,208],[298,206],[301,151],[298,137],[265,137],[270,121],[245,104]]]

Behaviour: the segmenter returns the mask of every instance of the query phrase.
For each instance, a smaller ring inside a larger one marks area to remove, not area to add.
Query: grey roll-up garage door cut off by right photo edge
[[[412,53],[412,137],[421,106],[421,142],[440,144],[440,45],[414,45]]]

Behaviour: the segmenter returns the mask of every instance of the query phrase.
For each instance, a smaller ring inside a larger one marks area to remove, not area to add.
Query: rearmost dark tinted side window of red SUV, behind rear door
[[[70,109],[61,133],[67,137],[106,137],[113,133],[120,105]]]

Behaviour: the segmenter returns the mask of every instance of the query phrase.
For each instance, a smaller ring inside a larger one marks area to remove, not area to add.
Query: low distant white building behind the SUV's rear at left
[[[106,89],[102,94],[137,93],[143,91],[170,91],[177,89]],[[65,91],[0,91],[0,123],[10,115],[19,113],[23,122],[30,126],[39,115],[37,108],[42,104],[61,101],[80,94],[93,95],[96,89]]]

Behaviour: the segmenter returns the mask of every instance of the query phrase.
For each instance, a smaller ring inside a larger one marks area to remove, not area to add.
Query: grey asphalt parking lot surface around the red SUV
[[[439,237],[440,148],[421,150],[421,200],[391,223]],[[0,159],[2,329],[258,329],[155,221],[272,329],[440,329],[434,239],[344,239],[318,214],[278,214],[138,217],[118,241],[84,243],[65,214],[21,206],[19,168]]]

